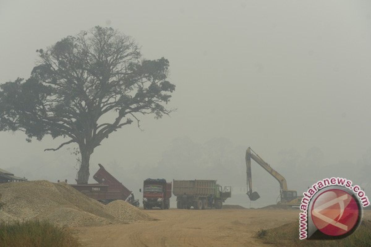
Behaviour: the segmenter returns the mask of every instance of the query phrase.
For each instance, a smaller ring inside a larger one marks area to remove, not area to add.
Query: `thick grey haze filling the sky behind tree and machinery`
[[[324,176],[370,187],[370,1],[0,0],[0,82],[29,77],[36,49],[96,25],[133,36],[146,59],[170,61],[178,110],[111,135],[91,177],[102,163],[134,191],[161,176],[215,178],[243,194],[251,146],[299,192]],[[66,148],[43,152],[60,140],[0,138],[0,168],[74,181]],[[253,181],[267,196],[251,206],[275,203],[278,184],[255,163]]]

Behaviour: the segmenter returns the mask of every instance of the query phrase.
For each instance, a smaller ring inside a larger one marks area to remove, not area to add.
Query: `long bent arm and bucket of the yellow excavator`
[[[247,184],[247,196],[250,200],[255,201],[260,198],[259,194],[252,190],[252,176],[251,176],[251,159],[253,159],[257,164],[263,167],[270,175],[272,175],[278,183],[280,184],[281,194],[282,191],[287,191],[286,179],[274,170],[268,163],[266,163],[262,158],[259,157],[250,147],[246,150],[246,184]]]

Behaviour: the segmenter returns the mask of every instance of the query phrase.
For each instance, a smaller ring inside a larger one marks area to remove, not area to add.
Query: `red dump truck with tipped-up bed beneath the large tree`
[[[98,183],[70,184],[70,186],[104,204],[114,200],[126,200],[131,194],[131,191],[106,171],[101,164],[98,164],[98,166],[99,170],[93,176]]]

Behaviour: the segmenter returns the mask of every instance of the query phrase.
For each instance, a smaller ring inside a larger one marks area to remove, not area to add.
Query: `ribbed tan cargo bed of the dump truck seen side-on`
[[[208,196],[216,194],[216,180],[173,180],[174,196]]]

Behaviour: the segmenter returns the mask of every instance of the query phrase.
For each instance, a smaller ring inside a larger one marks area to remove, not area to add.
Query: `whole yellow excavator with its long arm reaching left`
[[[275,171],[268,163],[266,163],[262,158],[260,158],[255,151],[250,147],[246,150],[246,180],[247,180],[247,196],[250,200],[255,201],[260,198],[259,194],[252,189],[252,177],[251,177],[251,159],[253,159],[257,164],[263,167],[270,175],[272,175],[278,181],[280,185],[280,201],[277,203],[282,206],[299,207],[302,196],[298,196],[295,190],[288,190],[286,179]]]

